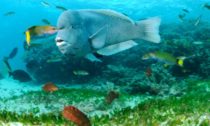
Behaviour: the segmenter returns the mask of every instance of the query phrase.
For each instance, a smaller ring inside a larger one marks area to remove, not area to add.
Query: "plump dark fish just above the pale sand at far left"
[[[31,77],[24,70],[15,70],[13,72],[9,72],[9,76],[12,76],[14,80],[18,80],[20,82],[29,82],[31,81]]]

